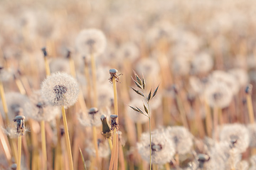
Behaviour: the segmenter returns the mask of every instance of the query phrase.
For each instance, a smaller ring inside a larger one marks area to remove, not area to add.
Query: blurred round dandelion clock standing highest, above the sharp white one
[[[104,52],[107,40],[101,30],[81,30],[75,40],[80,55],[100,55]]]

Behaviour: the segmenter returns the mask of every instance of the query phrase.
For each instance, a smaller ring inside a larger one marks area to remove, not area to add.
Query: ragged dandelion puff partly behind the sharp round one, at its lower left
[[[60,114],[58,107],[50,106],[46,98],[43,98],[41,91],[35,91],[30,97],[30,101],[25,103],[25,114],[27,118],[37,121],[50,121]]]

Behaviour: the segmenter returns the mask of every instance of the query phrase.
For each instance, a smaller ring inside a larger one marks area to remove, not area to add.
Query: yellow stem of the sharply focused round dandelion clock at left
[[[73,159],[72,159],[72,153],[71,153],[71,147],[70,147],[70,138],[68,135],[68,123],[67,123],[67,118],[65,115],[64,106],[61,106],[61,111],[62,111],[62,115],[63,115],[63,123],[64,123],[64,130],[65,130],[65,142],[67,145],[69,169],[73,170]]]

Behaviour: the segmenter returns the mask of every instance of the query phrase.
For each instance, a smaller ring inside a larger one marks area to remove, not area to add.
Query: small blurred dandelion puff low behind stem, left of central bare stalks
[[[90,154],[92,157],[95,157],[96,152],[95,152],[95,147],[92,142],[88,142],[89,145],[85,149],[85,151]],[[98,145],[98,152],[99,152],[99,157],[106,158],[110,155],[110,147],[108,145],[107,140],[97,140],[97,145]]]

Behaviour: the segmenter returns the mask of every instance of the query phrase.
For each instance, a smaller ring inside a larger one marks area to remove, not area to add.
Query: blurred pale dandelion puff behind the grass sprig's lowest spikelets
[[[132,101],[130,101],[129,103],[129,106],[136,106],[142,111],[144,111],[142,100],[140,100],[139,98],[132,99]],[[129,106],[127,106],[127,115],[134,123],[146,123],[149,121],[149,118],[146,117],[146,115],[134,111]]]

